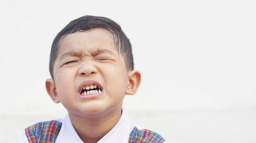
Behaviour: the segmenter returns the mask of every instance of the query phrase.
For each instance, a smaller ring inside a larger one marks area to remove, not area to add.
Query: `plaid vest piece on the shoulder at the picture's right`
[[[133,131],[130,133],[129,143],[161,143],[164,142],[163,137],[150,130],[139,130],[134,127]]]

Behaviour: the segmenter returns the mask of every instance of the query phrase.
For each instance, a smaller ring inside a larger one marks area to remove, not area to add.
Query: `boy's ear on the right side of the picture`
[[[133,95],[137,92],[140,86],[141,74],[137,70],[132,70],[128,72],[128,85],[125,91],[127,95]]]

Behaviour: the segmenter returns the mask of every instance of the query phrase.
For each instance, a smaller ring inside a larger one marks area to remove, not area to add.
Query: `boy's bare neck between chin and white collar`
[[[121,107],[108,113],[81,116],[69,112],[70,120],[84,143],[97,142],[119,121]]]

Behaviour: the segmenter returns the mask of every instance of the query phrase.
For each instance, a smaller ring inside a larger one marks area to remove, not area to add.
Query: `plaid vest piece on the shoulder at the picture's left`
[[[29,143],[52,143],[56,141],[62,123],[48,121],[36,123],[25,129]]]

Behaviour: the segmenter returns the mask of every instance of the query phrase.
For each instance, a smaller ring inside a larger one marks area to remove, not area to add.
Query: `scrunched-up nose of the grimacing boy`
[[[93,64],[93,62],[87,60],[83,61],[79,68],[79,76],[90,76],[97,73],[97,68]]]

